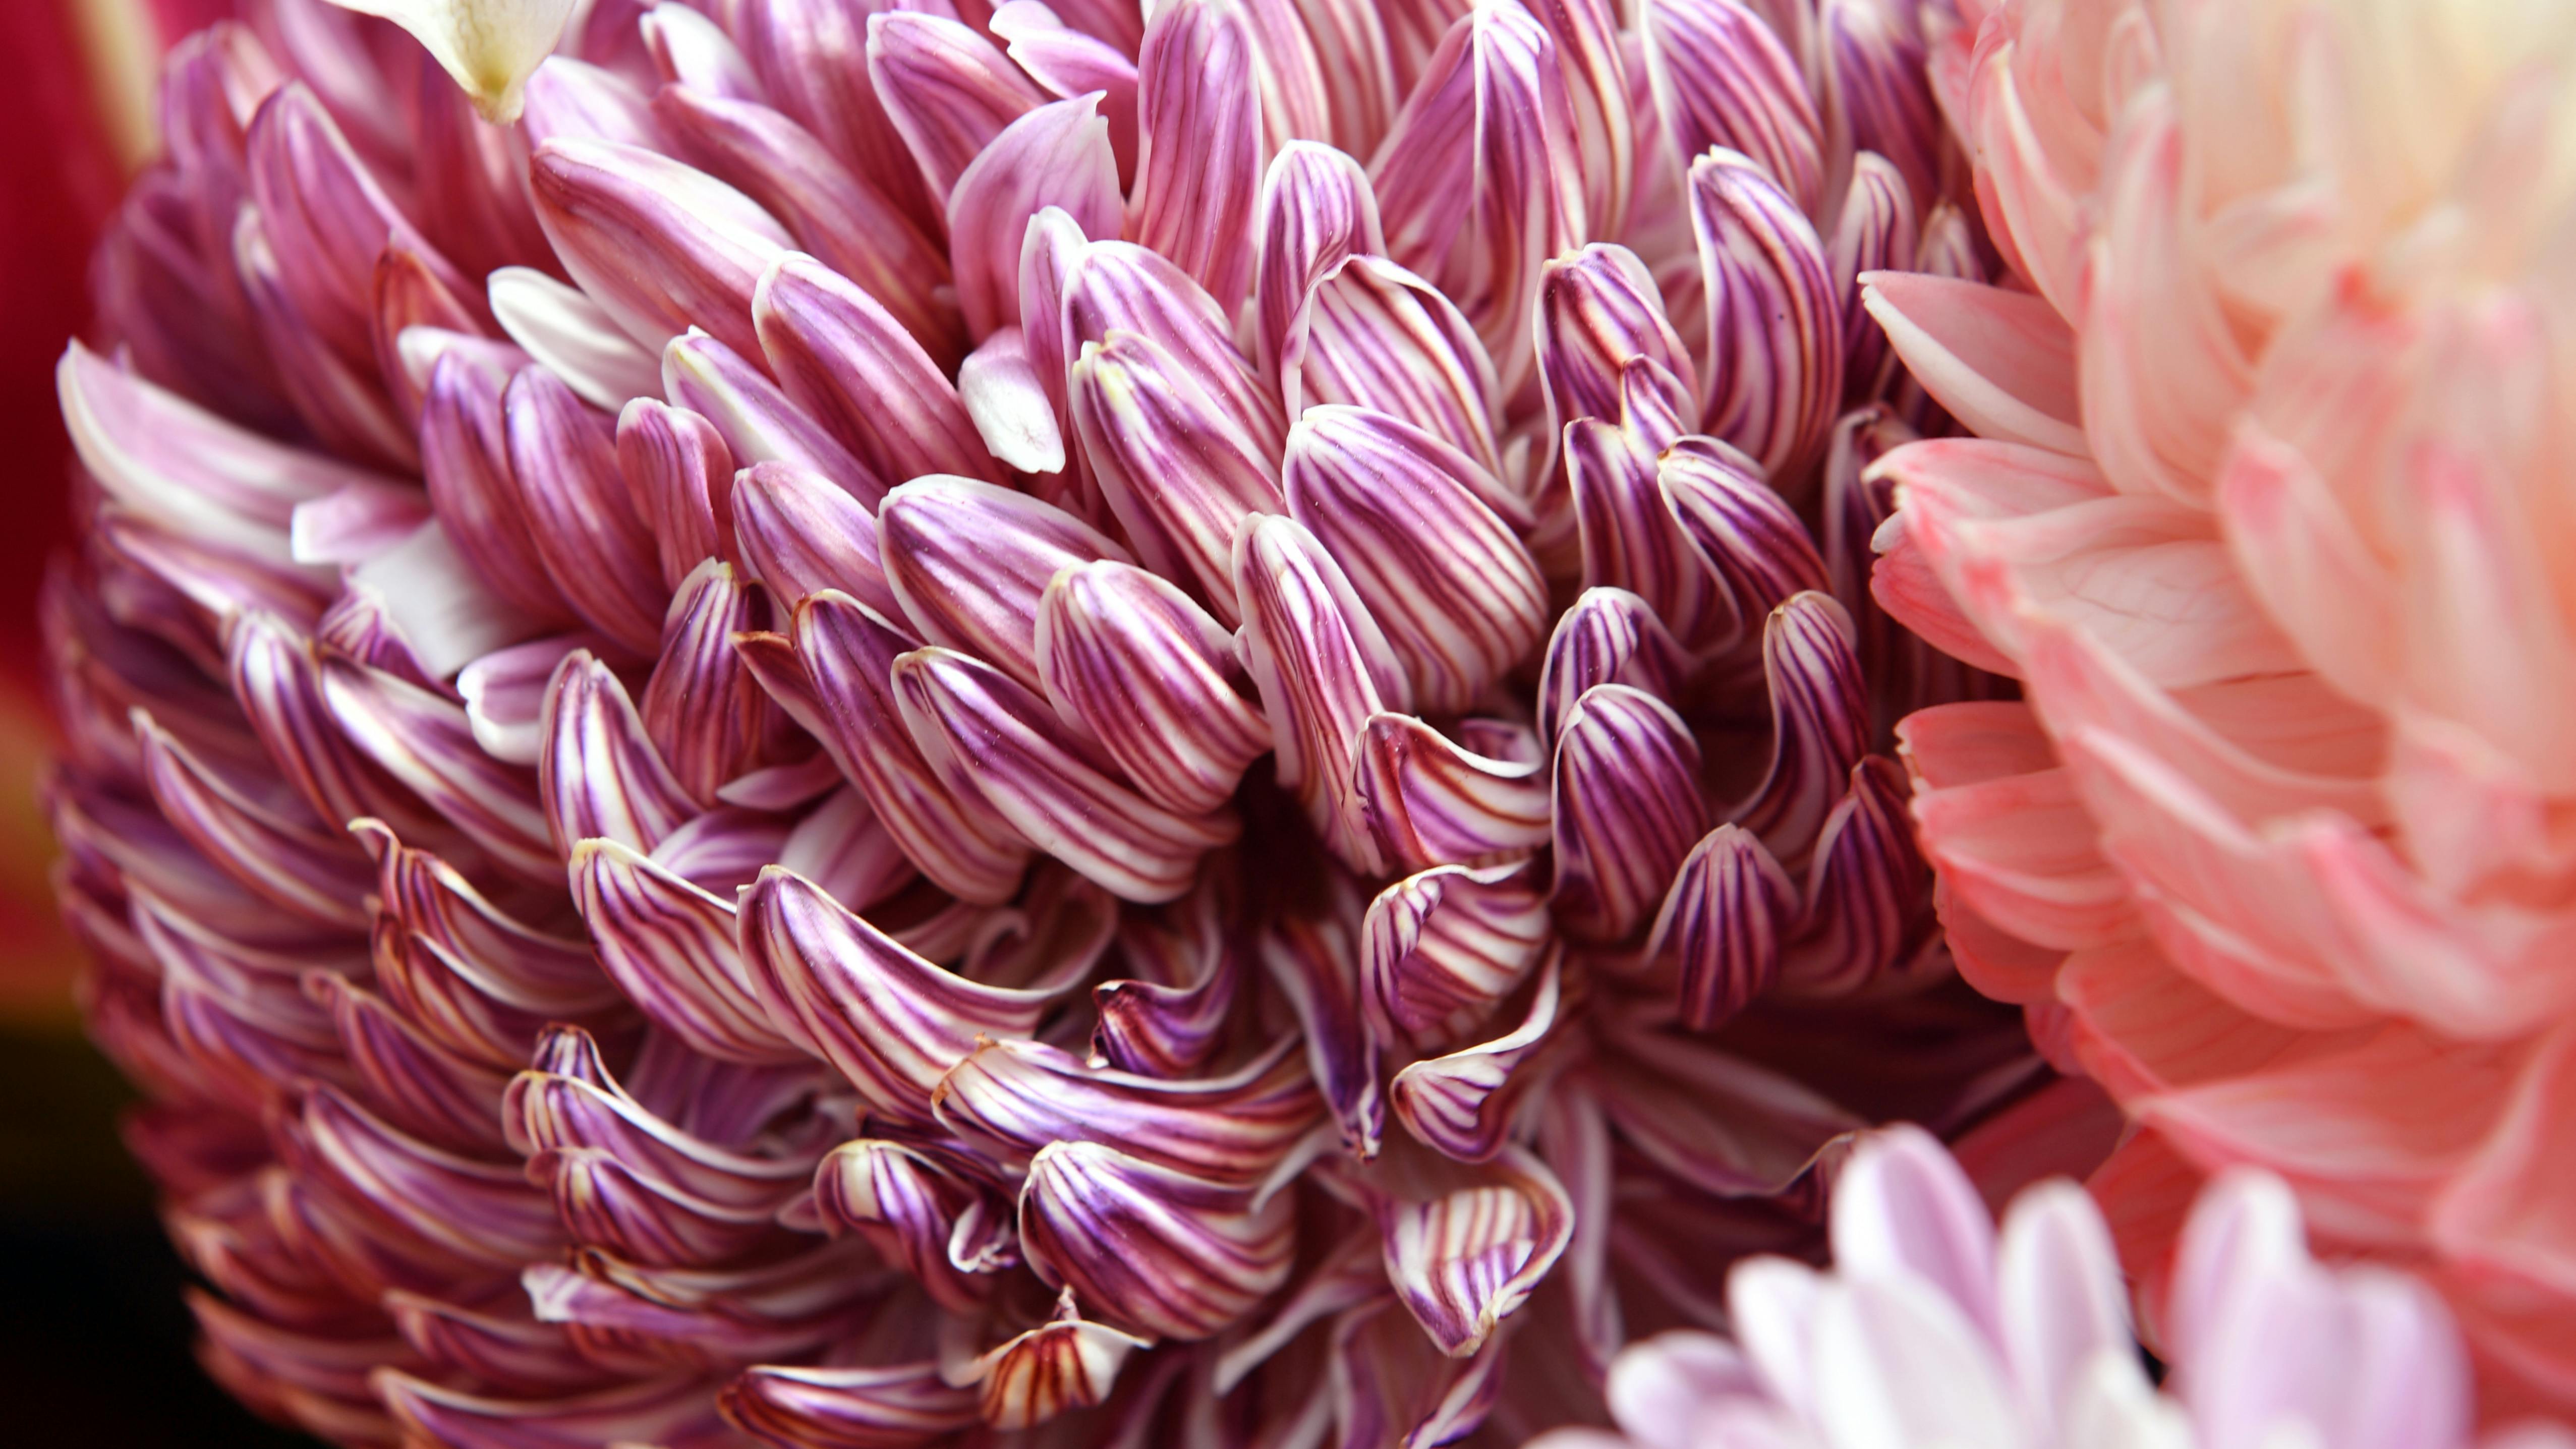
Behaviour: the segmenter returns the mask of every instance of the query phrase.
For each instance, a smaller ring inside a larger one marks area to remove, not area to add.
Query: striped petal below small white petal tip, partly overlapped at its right
[[[1059,569],[1131,564],[1079,517],[997,484],[927,476],[876,515],[886,582],[927,643],[963,649],[1038,687],[1038,600]]]

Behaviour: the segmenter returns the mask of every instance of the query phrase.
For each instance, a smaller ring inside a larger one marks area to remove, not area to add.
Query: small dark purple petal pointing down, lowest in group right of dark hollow
[[[1744,826],[1718,826],[1690,847],[1646,937],[1646,960],[1680,970],[1682,1024],[1713,1032],[1780,978],[1798,888]]]

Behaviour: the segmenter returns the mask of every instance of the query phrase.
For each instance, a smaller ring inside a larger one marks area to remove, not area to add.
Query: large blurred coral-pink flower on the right
[[[2576,18],[1963,10],[2022,286],[1870,288],[1978,432],[1878,597],[2030,700],[1904,731],[1950,942],[2154,1127],[2136,1269],[2259,1163],[2576,1405]]]

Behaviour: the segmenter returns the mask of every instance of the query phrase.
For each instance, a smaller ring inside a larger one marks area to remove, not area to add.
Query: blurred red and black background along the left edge
[[[54,358],[88,324],[88,255],[152,154],[160,54],[229,0],[0,0],[0,1439],[312,1444],[188,1356],[185,1271],[116,1143],[129,1094],[80,1037],[39,806],[52,723],[36,587],[70,548]]]

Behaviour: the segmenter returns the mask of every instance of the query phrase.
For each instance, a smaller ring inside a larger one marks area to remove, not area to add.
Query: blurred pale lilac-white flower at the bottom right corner
[[[1734,1338],[1674,1331],[1610,1367],[1625,1439],[1530,1449],[2465,1449],[2470,1374],[2442,1300],[2388,1269],[2308,1256],[2264,1171],[2202,1189],[2182,1228],[2151,1385],[2110,1228],[2071,1181],[2014,1197],[1996,1235],[1917,1127],[1873,1132],[1834,1186],[1834,1266],[1747,1259]],[[2566,1449],[2524,1423],[2486,1449]]]

